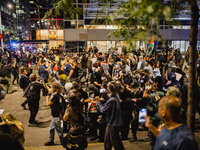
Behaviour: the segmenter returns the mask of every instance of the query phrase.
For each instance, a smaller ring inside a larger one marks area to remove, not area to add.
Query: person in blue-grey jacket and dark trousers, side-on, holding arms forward
[[[124,146],[119,137],[119,129],[123,125],[120,107],[120,97],[117,94],[117,85],[115,82],[108,84],[108,91],[111,97],[104,102],[104,98],[96,97],[96,105],[101,113],[107,114],[107,128],[104,139],[105,150],[124,150]]]

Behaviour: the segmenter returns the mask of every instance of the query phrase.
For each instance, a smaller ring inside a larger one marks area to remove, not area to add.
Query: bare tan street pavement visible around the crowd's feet
[[[25,143],[24,147],[26,150],[63,150],[64,148],[60,145],[45,147],[44,143],[48,141],[49,136],[49,125],[51,120],[50,108],[46,106],[45,98],[42,97],[40,100],[40,109],[36,116],[36,119],[41,122],[37,127],[28,127],[29,110],[23,110],[20,106],[25,100],[22,98],[22,90],[18,85],[13,86],[13,94],[7,94],[6,98],[0,102],[0,109],[5,109],[4,114],[11,113],[18,120],[23,123],[25,132]],[[198,116],[196,117],[198,118]],[[150,144],[146,131],[138,131],[138,141],[130,143],[128,141],[123,141],[126,150],[139,149],[148,150],[150,149]],[[197,141],[200,141],[200,124],[196,123],[195,136]],[[129,134],[131,137],[131,134]],[[55,134],[55,143],[59,144],[59,139],[57,134]],[[200,145],[199,145],[200,147]],[[87,150],[102,150],[104,149],[103,143],[90,142]]]

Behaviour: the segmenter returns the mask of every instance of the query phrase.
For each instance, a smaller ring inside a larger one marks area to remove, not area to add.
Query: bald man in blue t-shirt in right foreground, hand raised
[[[165,96],[159,101],[159,117],[164,121],[162,130],[159,131],[147,117],[145,123],[157,137],[154,150],[197,150],[194,134],[185,124],[180,122],[181,100],[175,96]]]

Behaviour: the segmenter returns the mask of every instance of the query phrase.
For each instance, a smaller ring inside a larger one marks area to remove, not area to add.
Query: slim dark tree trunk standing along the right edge
[[[189,85],[188,85],[188,116],[187,126],[194,132],[195,124],[195,101],[196,101],[196,60],[197,60],[197,35],[199,8],[196,0],[189,0],[191,28],[190,28],[190,51],[189,51]]]

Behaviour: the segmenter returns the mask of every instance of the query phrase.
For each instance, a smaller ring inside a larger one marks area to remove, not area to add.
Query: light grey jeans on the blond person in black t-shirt
[[[52,117],[51,119],[51,124],[50,124],[50,129],[49,129],[49,142],[54,141],[55,130],[60,139],[60,144],[62,145],[63,144],[63,130],[61,128],[60,117]]]

